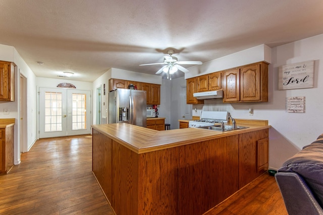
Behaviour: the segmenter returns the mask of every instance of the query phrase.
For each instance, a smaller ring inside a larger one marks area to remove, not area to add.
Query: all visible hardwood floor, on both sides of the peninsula
[[[114,215],[92,174],[92,138],[44,138],[0,176],[0,214]],[[205,213],[287,214],[275,178],[264,174]]]

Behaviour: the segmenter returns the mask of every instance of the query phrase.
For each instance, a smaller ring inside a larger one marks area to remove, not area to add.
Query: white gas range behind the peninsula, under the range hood
[[[220,121],[228,122],[227,111],[202,111],[201,119],[189,121],[188,127],[202,127],[207,125],[214,125]]]

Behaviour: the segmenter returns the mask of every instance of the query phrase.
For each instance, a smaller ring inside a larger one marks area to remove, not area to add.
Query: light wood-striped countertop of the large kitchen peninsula
[[[202,128],[157,131],[127,123],[92,125],[92,128],[133,152],[142,154],[271,127],[267,120],[236,119],[236,122],[237,126],[248,128],[225,132]]]

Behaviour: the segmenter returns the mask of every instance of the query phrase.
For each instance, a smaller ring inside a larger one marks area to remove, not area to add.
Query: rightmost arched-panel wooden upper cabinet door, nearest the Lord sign
[[[260,64],[249,65],[240,69],[240,100],[260,100]]]

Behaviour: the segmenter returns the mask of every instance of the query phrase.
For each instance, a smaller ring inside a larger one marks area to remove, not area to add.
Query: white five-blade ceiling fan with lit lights
[[[161,67],[156,74],[167,73],[167,79],[171,78],[172,80],[172,74],[176,73],[176,71],[179,69],[183,71],[183,73],[188,73],[189,70],[187,68],[184,68],[180,64],[202,64],[201,61],[177,61],[177,57],[172,56],[174,54],[174,50],[170,49],[167,51],[167,53],[170,55],[164,56],[164,62],[163,63],[148,63],[148,64],[141,64],[141,65],[156,65],[156,64],[165,64],[163,67]]]

